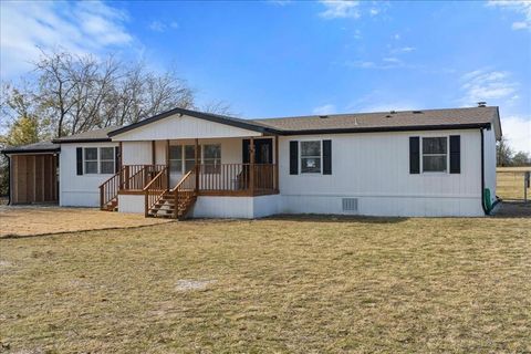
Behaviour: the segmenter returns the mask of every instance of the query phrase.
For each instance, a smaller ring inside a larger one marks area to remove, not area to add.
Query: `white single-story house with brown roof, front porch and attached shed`
[[[477,217],[497,201],[500,137],[490,106],[267,119],[175,108],[3,154],[12,204],[174,218]]]

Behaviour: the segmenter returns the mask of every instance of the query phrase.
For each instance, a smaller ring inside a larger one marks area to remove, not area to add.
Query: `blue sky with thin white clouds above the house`
[[[240,117],[498,105],[531,152],[531,1],[2,1],[0,74],[39,48],[175,70]]]

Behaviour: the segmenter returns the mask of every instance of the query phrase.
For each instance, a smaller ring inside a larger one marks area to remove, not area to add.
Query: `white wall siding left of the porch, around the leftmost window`
[[[117,146],[116,143],[86,143],[61,144],[59,204],[63,207],[98,207],[100,185],[113,175],[82,175],[77,176],[77,147],[107,147]]]

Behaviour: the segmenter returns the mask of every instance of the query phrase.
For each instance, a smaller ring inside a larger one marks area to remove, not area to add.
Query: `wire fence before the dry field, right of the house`
[[[531,167],[502,168],[498,169],[496,175],[496,195],[498,197],[503,200],[530,201]]]

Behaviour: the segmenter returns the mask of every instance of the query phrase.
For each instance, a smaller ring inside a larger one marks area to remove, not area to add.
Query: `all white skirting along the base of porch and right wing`
[[[357,199],[344,210],[343,198]],[[144,214],[144,196],[119,195],[121,212]],[[479,197],[260,196],[198,197],[192,218],[253,219],[275,214],[363,215],[378,217],[481,217]]]

